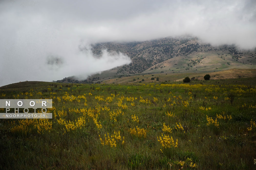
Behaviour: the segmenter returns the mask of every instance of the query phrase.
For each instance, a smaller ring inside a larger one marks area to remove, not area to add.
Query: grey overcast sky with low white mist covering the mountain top
[[[180,35],[254,48],[256,1],[2,0],[0,86],[86,77],[131,62],[129,56],[106,50],[96,59],[91,43]],[[79,46],[87,50],[81,52]]]

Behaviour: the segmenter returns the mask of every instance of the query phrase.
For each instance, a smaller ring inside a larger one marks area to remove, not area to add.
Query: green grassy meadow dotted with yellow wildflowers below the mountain
[[[53,118],[1,119],[0,169],[255,169],[255,83],[2,87],[0,99],[52,99]]]

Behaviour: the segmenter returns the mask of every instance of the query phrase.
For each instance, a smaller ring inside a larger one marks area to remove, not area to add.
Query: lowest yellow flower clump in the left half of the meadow
[[[100,135],[99,137],[100,137],[100,142],[102,146],[109,145],[111,148],[113,148],[113,147],[116,147],[116,142],[121,142],[121,141],[122,141],[121,144],[122,145],[124,144],[124,136],[123,138],[120,136],[120,131],[114,132],[114,135],[109,135],[109,133],[108,135],[104,134],[104,140],[101,138]]]

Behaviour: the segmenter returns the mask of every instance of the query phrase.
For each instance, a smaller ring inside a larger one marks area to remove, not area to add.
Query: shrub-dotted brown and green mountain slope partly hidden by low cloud
[[[77,80],[75,76],[57,82],[101,83],[108,79],[157,73],[204,73],[228,69],[256,69],[256,48],[238,49],[234,45],[212,46],[196,37],[166,37],[143,42],[107,42],[92,45],[92,51],[100,56],[102,49],[121,52],[132,62]]]

